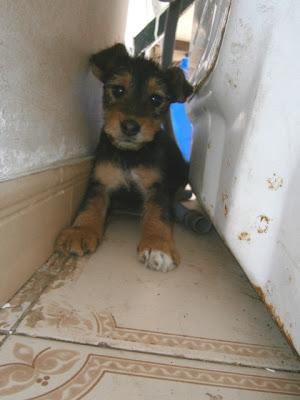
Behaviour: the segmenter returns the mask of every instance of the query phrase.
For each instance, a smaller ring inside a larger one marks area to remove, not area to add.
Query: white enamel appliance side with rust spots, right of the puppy
[[[233,1],[216,68],[189,104],[193,188],[298,351],[299,36],[297,0]]]

